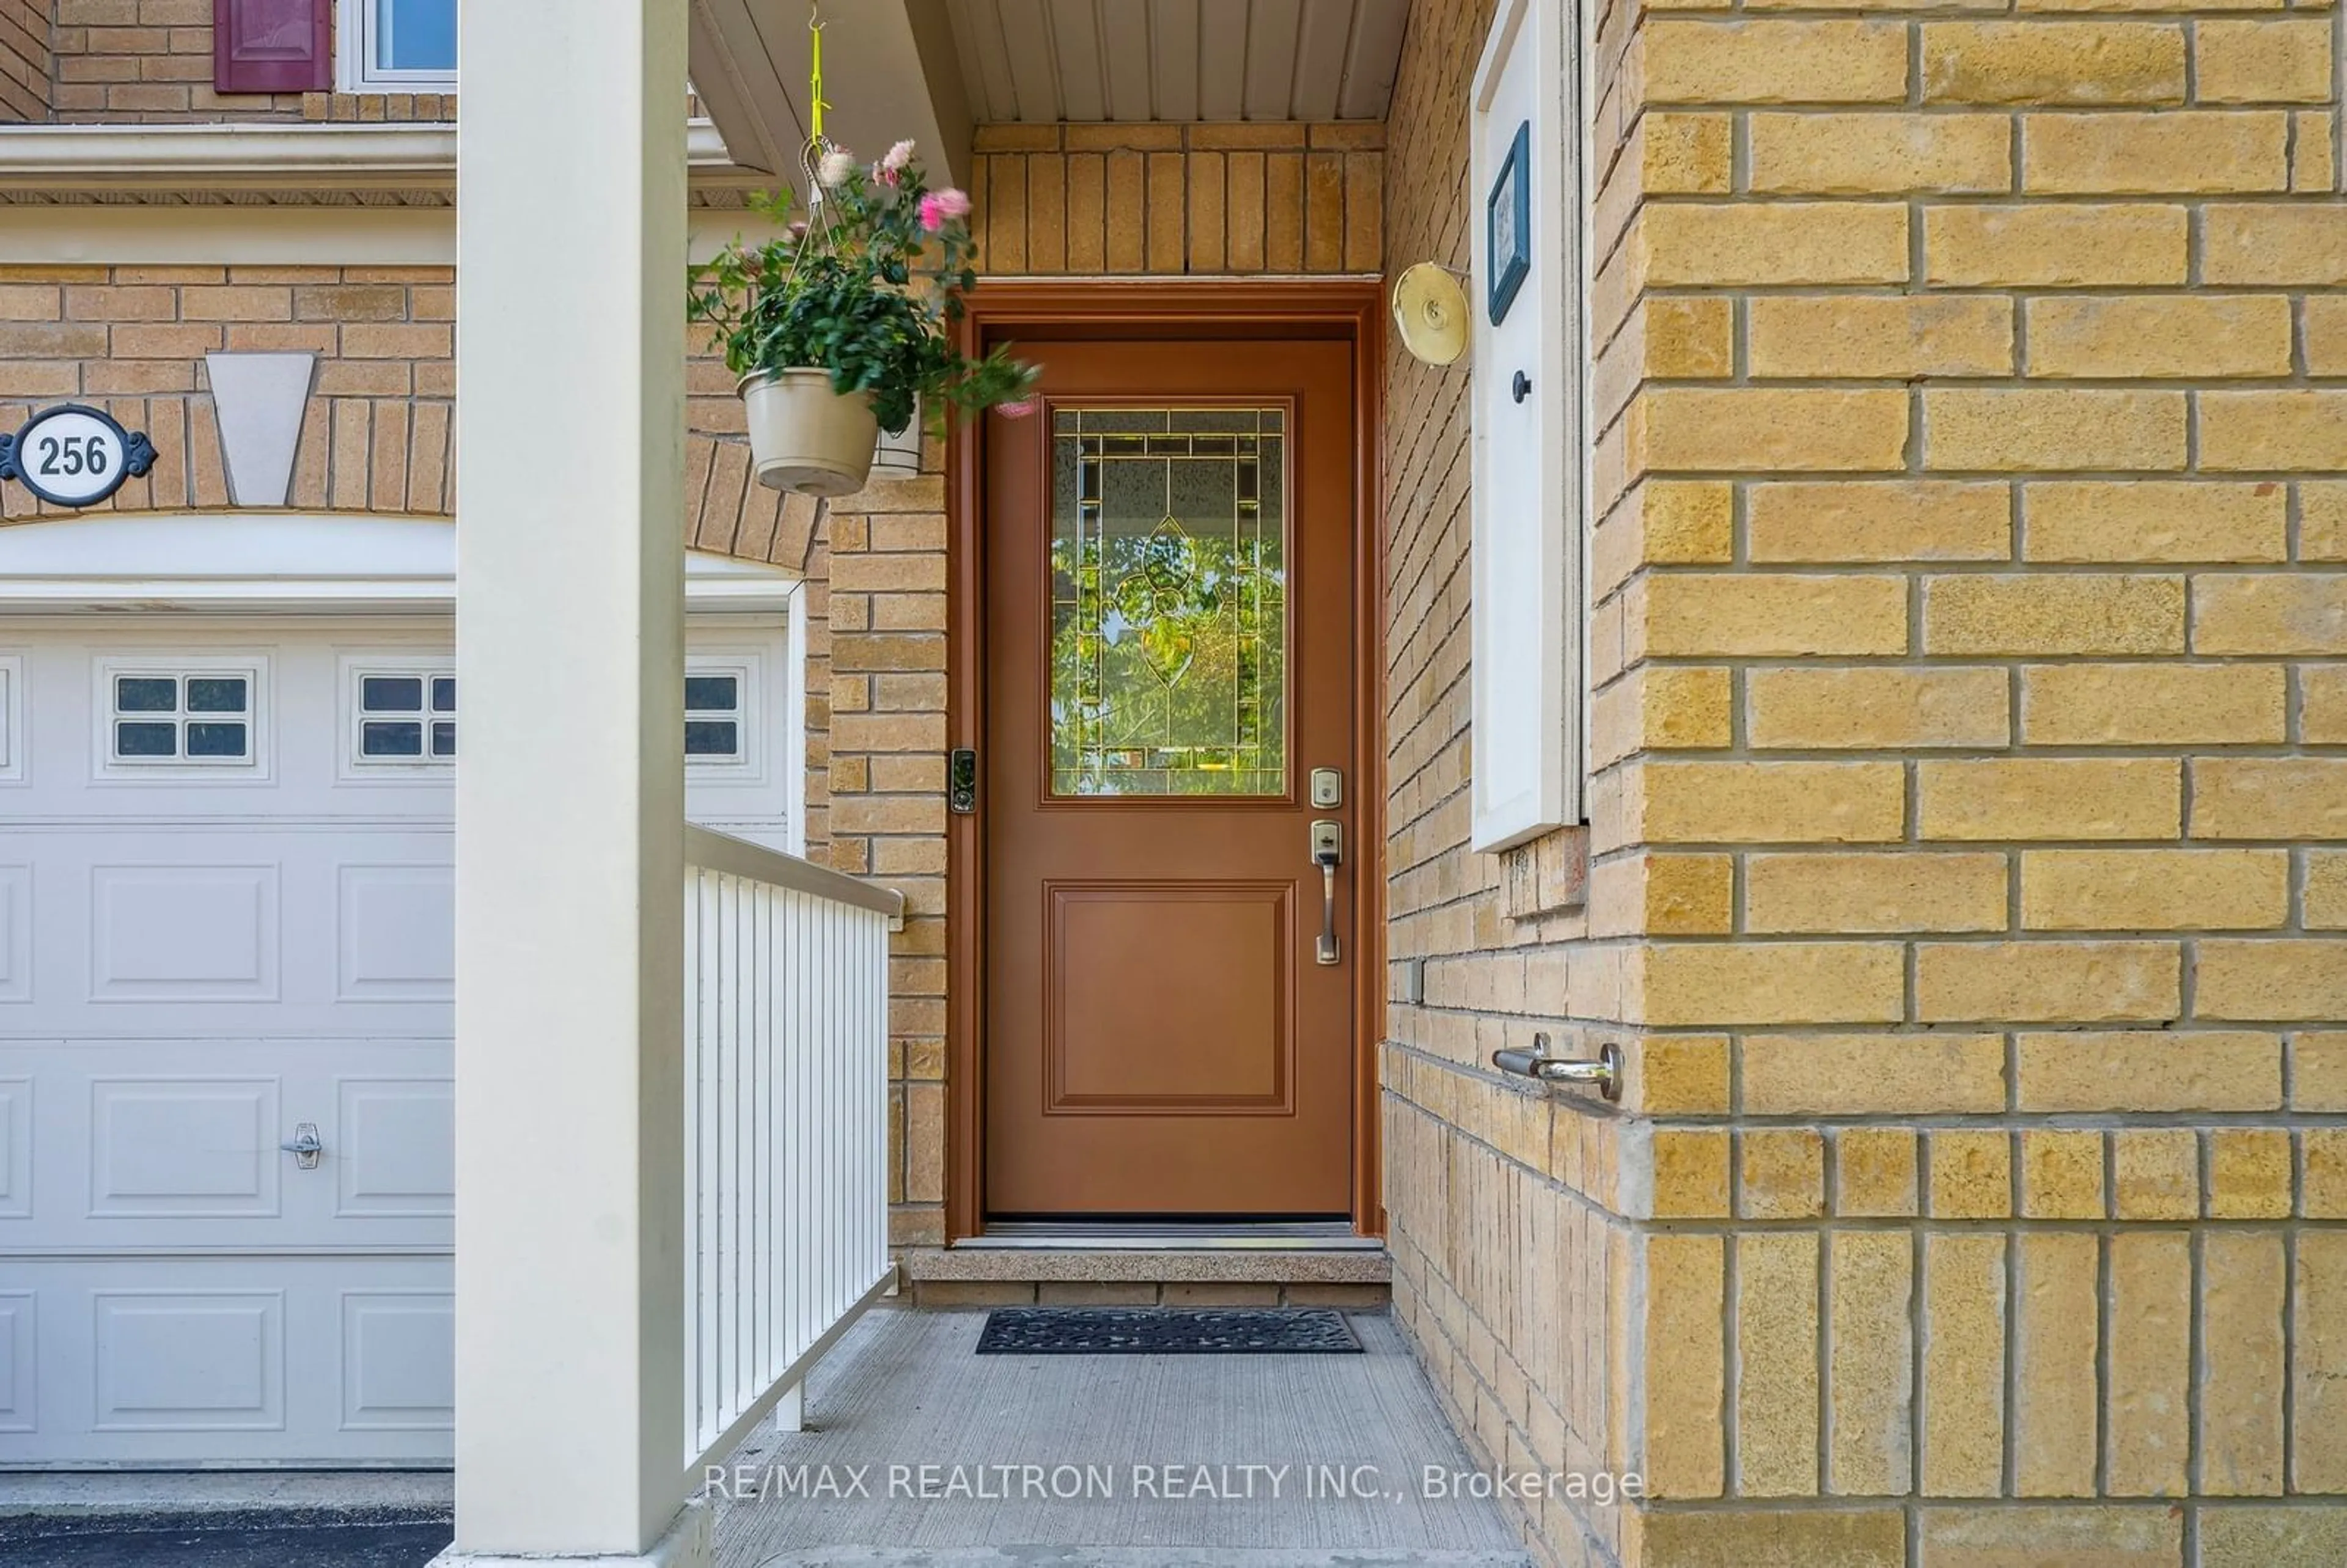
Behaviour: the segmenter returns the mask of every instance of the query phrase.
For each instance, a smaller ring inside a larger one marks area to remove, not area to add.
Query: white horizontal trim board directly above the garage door
[[[685,608],[782,615],[779,566],[685,552]],[[319,512],[70,516],[0,528],[0,615],[80,610],[448,613],[455,523]]]

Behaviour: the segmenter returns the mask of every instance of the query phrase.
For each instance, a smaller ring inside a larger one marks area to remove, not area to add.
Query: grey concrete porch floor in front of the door
[[[1495,1502],[1425,1493],[1469,1460],[1385,1314],[1357,1357],[981,1357],[983,1324],[857,1324],[807,1430],[735,1455],[718,1568],[1530,1563]]]

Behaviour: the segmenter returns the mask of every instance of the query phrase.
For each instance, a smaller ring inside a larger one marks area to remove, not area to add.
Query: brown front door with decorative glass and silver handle
[[[988,1214],[1345,1216],[1354,350],[1021,352],[1042,406],[986,434]]]

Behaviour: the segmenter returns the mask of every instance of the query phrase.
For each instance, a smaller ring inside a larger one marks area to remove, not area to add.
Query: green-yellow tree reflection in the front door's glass
[[[1056,793],[1286,789],[1277,538],[1197,538],[1169,516],[1145,535],[1058,538],[1051,575]]]

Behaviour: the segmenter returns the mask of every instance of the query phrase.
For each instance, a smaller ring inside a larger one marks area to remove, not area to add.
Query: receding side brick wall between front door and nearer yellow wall
[[[1490,0],[1413,7],[1387,122],[1392,268],[1469,265],[1469,214],[1481,207],[1465,178],[1467,94],[1490,12]],[[1601,87],[1612,92],[1610,73]],[[1601,124],[1601,146],[1619,136]],[[1497,857],[1467,847],[1467,390],[1465,369],[1429,369],[1389,345],[1382,1099],[1394,1312],[1479,1462],[1622,1474],[1641,1465],[1641,1422],[1669,1432],[1713,1418],[1685,1390],[1673,1390],[1676,1408],[1626,1406],[1638,1387],[1629,1345],[1718,1333],[1702,1322],[1702,1296],[1638,1289],[1648,1239],[1629,1216],[1645,1211],[1641,1174],[1683,1150],[1652,1150],[1643,1120],[1500,1077],[1490,1052],[1547,1035],[1556,1054],[1577,1056],[1624,1038],[1634,939],[1704,920],[1727,904],[1730,876],[1718,857],[1591,864],[1577,829]],[[1718,526],[1725,516],[1687,507],[1657,516],[1652,538],[1692,542]],[[1626,768],[1641,723],[1702,744],[1727,725],[1727,683],[1657,669],[1612,685],[1596,716],[1601,777]],[[1690,1035],[1641,1054],[1624,1106],[1725,1110],[1725,1042]],[[1568,1491],[1514,1507],[1544,1559],[1612,1563],[1634,1549],[1622,1507]]]

